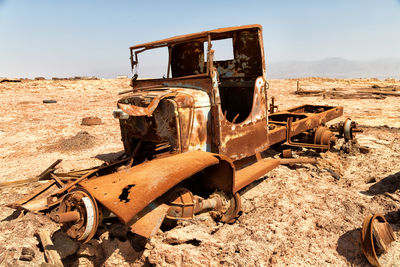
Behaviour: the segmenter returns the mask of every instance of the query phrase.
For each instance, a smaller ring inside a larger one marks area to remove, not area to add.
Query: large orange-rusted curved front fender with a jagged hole
[[[221,162],[233,188],[233,165],[220,155],[192,151],[167,158],[155,159],[120,172],[82,182],[80,185],[118,218],[128,223],[152,201],[179,182],[201,170]],[[228,164],[227,164],[228,163]],[[222,181],[221,174],[220,180]]]

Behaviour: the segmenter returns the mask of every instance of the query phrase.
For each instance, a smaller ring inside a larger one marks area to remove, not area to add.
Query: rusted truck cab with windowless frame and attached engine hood
[[[213,44],[221,40],[228,46],[220,49],[231,50],[231,59],[215,58],[218,51]],[[239,160],[268,148],[260,25],[133,46],[132,68],[140,66],[142,52],[160,47],[168,47],[166,77],[134,76],[133,92],[118,101],[119,110],[114,112],[127,154],[133,153],[139,140],[147,158],[203,150]]]

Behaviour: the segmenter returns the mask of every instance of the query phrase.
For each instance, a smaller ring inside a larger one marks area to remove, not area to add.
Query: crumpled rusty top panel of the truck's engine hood
[[[129,103],[130,98],[146,99],[147,106],[138,106]],[[194,107],[209,105],[207,93],[201,90],[186,88],[160,88],[152,91],[134,93],[118,101],[118,107],[130,116],[151,116],[160,101],[164,98],[174,98],[178,107]],[[128,104],[129,103],[129,104]]]

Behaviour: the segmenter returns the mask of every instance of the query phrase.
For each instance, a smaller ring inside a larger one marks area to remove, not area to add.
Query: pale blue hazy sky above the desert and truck
[[[130,75],[131,45],[254,23],[267,64],[400,57],[400,0],[0,0],[0,77]]]

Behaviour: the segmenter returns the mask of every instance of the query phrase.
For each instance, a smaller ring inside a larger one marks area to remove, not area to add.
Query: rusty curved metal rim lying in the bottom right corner
[[[396,237],[390,224],[380,215],[368,215],[362,224],[361,246],[368,262],[374,266],[382,266],[378,255],[385,253]]]

